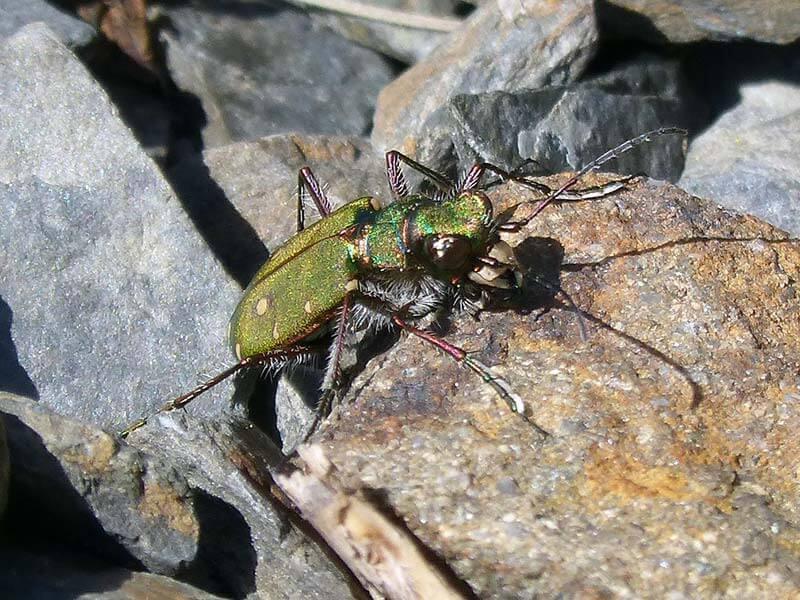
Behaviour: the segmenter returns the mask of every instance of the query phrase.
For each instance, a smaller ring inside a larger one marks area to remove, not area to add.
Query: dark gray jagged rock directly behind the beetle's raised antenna
[[[546,173],[577,170],[623,141],[663,126],[685,126],[678,65],[640,60],[571,87],[456,96],[453,144],[462,170],[476,161],[505,169],[534,159]],[[677,180],[684,140],[671,136],[621,155],[606,170]]]

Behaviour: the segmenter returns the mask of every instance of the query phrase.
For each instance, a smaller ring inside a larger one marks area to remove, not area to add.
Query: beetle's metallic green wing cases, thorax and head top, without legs
[[[492,205],[471,191],[436,201],[413,195],[386,208],[353,200],[300,231],[259,269],[233,313],[230,344],[241,360],[286,348],[331,320],[371,272],[424,270],[454,276],[486,249]],[[463,240],[460,264],[429,260],[426,242]]]

